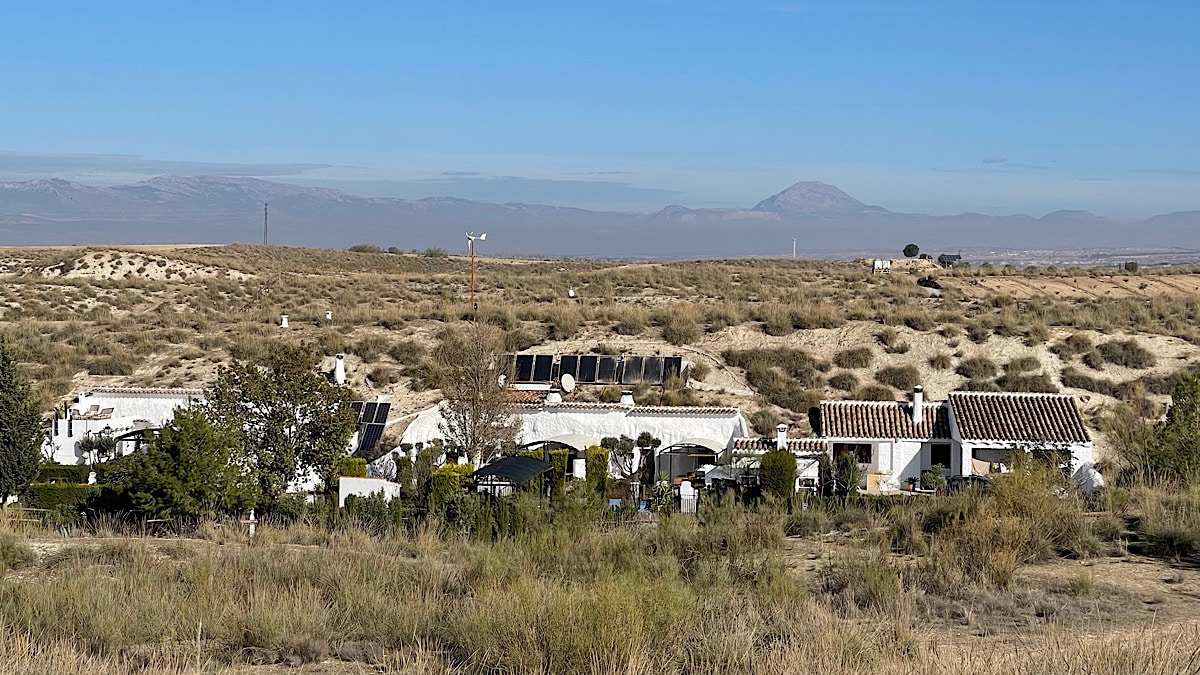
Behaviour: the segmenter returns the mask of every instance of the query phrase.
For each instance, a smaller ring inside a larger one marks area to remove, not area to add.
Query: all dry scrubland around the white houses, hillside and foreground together
[[[472,316],[445,251],[230,246],[138,263],[169,275],[83,275],[110,259],[6,263],[4,334],[47,407],[100,383],[206,387],[283,341],[348,353],[355,388],[415,408],[444,327]],[[155,532],[144,514],[10,508],[0,674],[1194,670],[1200,417],[1156,422],[1200,363],[1200,297],[1171,291],[1194,274],[960,268],[930,297],[853,263],[482,258],[476,318],[506,350],[696,364],[640,402],[737,404],[770,435],[803,432],[822,398],[1068,392],[1110,488],[1085,501],[1030,464],[983,494],[709,500],[653,525],[584,490],[364,500],[278,508],[252,539],[238,520]]]

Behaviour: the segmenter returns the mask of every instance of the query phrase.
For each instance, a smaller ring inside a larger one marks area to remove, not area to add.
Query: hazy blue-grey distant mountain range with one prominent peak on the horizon
[[[270,203],[270,243],[344,249],[461,250],[487,232],[488,253],[598,257],[898,255],[973,250],[1200,250],[1200,210],[1140,222],[1087,211],[930,216],[868,205],[833,185],[797,183],[751,209],[653,214],[428,197],[358,197],[254,178],[161,177],[113,187],[66,180],[0,183],[0,244],[257,243]]]

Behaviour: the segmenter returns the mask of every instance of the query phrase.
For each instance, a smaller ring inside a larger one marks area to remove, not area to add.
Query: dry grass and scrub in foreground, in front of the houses
[[[118,518],[62,538],[11,510],[0,671],[1187,671],[1200,492],[1056,485],[1030,465],[986,494],[709,501],[653,526],[526,495],[503,532],[362,503],[253,538]]]

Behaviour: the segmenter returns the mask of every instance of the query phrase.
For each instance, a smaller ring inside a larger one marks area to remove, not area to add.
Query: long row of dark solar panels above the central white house
[[[683,357],[516,354],[514,382],[547,383],[570,375],[580,384],[662,384],[683,374]]]

